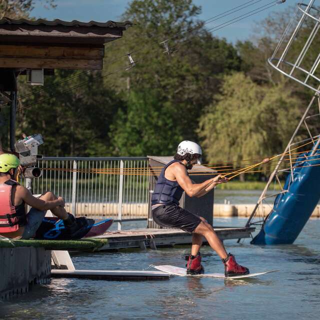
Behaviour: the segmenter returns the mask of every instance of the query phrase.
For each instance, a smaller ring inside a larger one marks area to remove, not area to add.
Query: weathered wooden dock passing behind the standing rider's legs
[[[221,240],[248,238],[254,227],[215,227],[214,230]],[[125,248],[156,249],[159,246],[190,244],[191,234],[178,229],[131,229],[106,232],[99,235],[108,241],[98,250],[117,250]]]

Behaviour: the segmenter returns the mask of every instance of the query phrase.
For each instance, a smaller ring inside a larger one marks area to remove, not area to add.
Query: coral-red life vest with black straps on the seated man
[[[11,201],[12,185],[16,184],[14,180],[0,184],[0,233],[17,231],[26,223],[24,201],[19,205]]]

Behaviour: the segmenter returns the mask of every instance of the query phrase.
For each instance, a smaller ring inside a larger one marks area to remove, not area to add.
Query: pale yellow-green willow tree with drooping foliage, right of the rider
[[[241,72],[226,75],[199,122],[206,158],[240,165],[280,153],[296,126],[299,103],[283,83],[261,86]]]

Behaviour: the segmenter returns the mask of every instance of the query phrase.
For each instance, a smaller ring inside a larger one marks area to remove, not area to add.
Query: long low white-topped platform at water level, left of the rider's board
[[[85,278],[98,280],[165,280],[170,274],[161,271],[139,270],[51,270],[52,277]]]

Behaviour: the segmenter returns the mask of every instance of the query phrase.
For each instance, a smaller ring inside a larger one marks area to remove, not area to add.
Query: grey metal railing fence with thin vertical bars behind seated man
[[[62,196],[75,216],[110,217],[118,229],[121,221],[147,218],[149,175],[137,174],[147,170],[146,157],[44,157],[38,166],[33,192]]]

